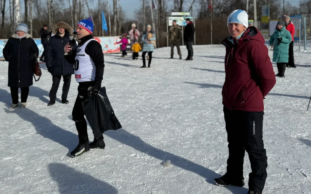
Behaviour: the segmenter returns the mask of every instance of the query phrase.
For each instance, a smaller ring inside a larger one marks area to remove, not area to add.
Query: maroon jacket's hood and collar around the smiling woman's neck
[[[263,44],[265,43],[265,39],[263,38],[262,34],[254,26],[248,27],[248,29],[246,29],[246,31],[244,32],[244,34],[242,35],[241,38],[234,39],[236,44],[241,44],[241,43],[248,41],[248,40],[257,40]],[[228,44],[231,42],[228,40],[228,37],[227,37],[221,43],[227,47]]]

